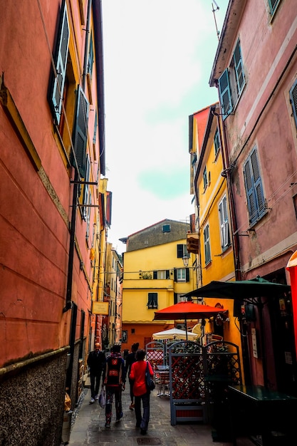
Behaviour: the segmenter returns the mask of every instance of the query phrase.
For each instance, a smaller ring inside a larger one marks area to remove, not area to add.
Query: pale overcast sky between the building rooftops
[[[189,222],[189,115],[209,87],[228,0],[102,0],[108,242],[162,219]]]

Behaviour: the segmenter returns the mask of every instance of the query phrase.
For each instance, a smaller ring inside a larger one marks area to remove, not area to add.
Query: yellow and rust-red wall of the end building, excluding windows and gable
[[[189,268],[188,282],[174,282],[174,268],[184,268],[182,259],[177,258],[177,244],[187,244],[186,239],[160,244],[155,247],[127,251],[124,254],[123,280],[123,330],[134,327],[141,333],[135,339],[144,346],[144,338],[152,333],[174,326],[174,321],[153,321],[155,311],[174,304],[174,292],[186,294],[196,286],[194,269]],[[191,254],[192,255],[192,254]],[[189,259],[189,266],[193,259]],[[141,279],[142,274],[151,274],[154,270],[170,270],[170,279]],[[148,293],[158,294],[158,308],[147,308]],[[131,325],[132,324],[132,325]],[[194,323],[192,324],[194,326]],[[138,326],[138,328],[137,328]],[[140,328],[141,326],[141,328]],[[128,347],[132,342],[128,338]],[[125,346],[123,346],[125,348]]]

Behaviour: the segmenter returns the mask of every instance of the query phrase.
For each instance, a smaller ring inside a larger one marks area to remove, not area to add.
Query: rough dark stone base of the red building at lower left
[[[39,356],[1,370],[1,446],[61,445],[66,355]]]

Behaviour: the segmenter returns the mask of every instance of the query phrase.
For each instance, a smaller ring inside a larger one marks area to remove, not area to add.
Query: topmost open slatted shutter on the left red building
[[[69,21],[66,8],[66,1],[63,1],[61,8],[61,21],[59,24],[58,42],[56,46],[55,68],[56,77],[53,76],[51,87],[51,105],[53,107],[54,118],[59,124],[62,112],[63,90],[66,79],[66,68],[69,48]]]

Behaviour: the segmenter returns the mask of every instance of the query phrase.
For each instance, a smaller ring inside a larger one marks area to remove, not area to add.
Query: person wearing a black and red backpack
[[[113,416],[113,395],[115,396],[116,422],[123,417],[122,390],[125,390],[126,372],[125,361],[120,354],[120,345],[115,344],[111,348],[111,354],[106,360],[103,370],[103,383],[106,389],[105,427],[110,427]]]

